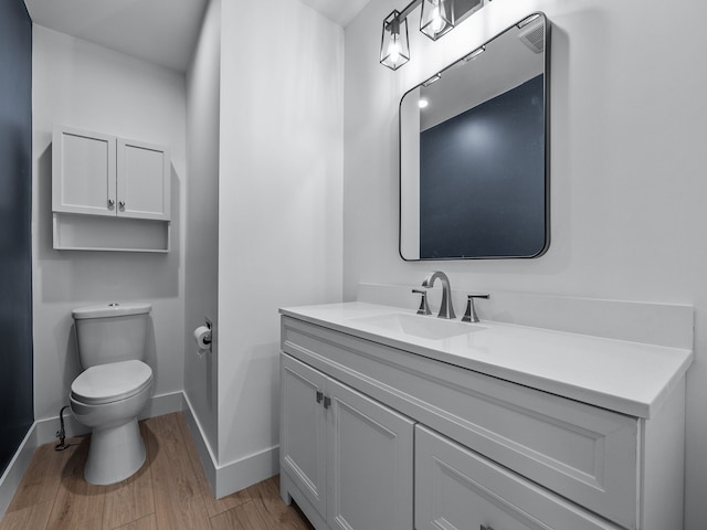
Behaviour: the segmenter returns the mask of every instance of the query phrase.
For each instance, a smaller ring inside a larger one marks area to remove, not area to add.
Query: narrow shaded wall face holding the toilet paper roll
[[[220,68],[221,2],[212,0],[187,72],[187,162],[194,178],[186,186],[184,392],[214,455],[218,342],[212,353],[199,358],[193,330],[208,317],[218,337]]]

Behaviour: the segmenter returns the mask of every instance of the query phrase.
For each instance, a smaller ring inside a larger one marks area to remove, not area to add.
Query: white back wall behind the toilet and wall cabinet
[[[71,310],[108,301],[152,304],[148,362],[155,394],[183,379],[183,75],[34,25],[33,29],[34,415],[56,416],[80,373]],[[170,146],[172,251],[129,254],[52,250],[53,124]],[[175,328],[180,329],[175,332]]]

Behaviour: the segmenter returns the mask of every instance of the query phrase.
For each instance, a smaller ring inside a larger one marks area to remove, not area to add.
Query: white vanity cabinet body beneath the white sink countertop
[[[317,530],[683,528],[684,375],[668,375],[659,407],[636,416],[623,398],[611,410],[606,396],[598,406],[282,312],[281,496]],[[524,349],[518,337],[509,344]],[[387,418],[414,422],[414,458]],[[392,491],[402,500],[381,509]],[[391,507],[414,526],[376,519]],[[366,522],[337,524],[357,512]]]

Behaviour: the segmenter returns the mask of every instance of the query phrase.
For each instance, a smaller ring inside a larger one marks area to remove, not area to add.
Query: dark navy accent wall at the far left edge
[[[0,0],[0,474],[34,421],[32,21]]]

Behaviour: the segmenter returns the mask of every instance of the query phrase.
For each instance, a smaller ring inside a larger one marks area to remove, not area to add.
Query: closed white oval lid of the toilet
[[[71,383],[71,395],[97,405],[130,398],[152,382],[152,369],[141,361],[109,362],[91,367]]]

